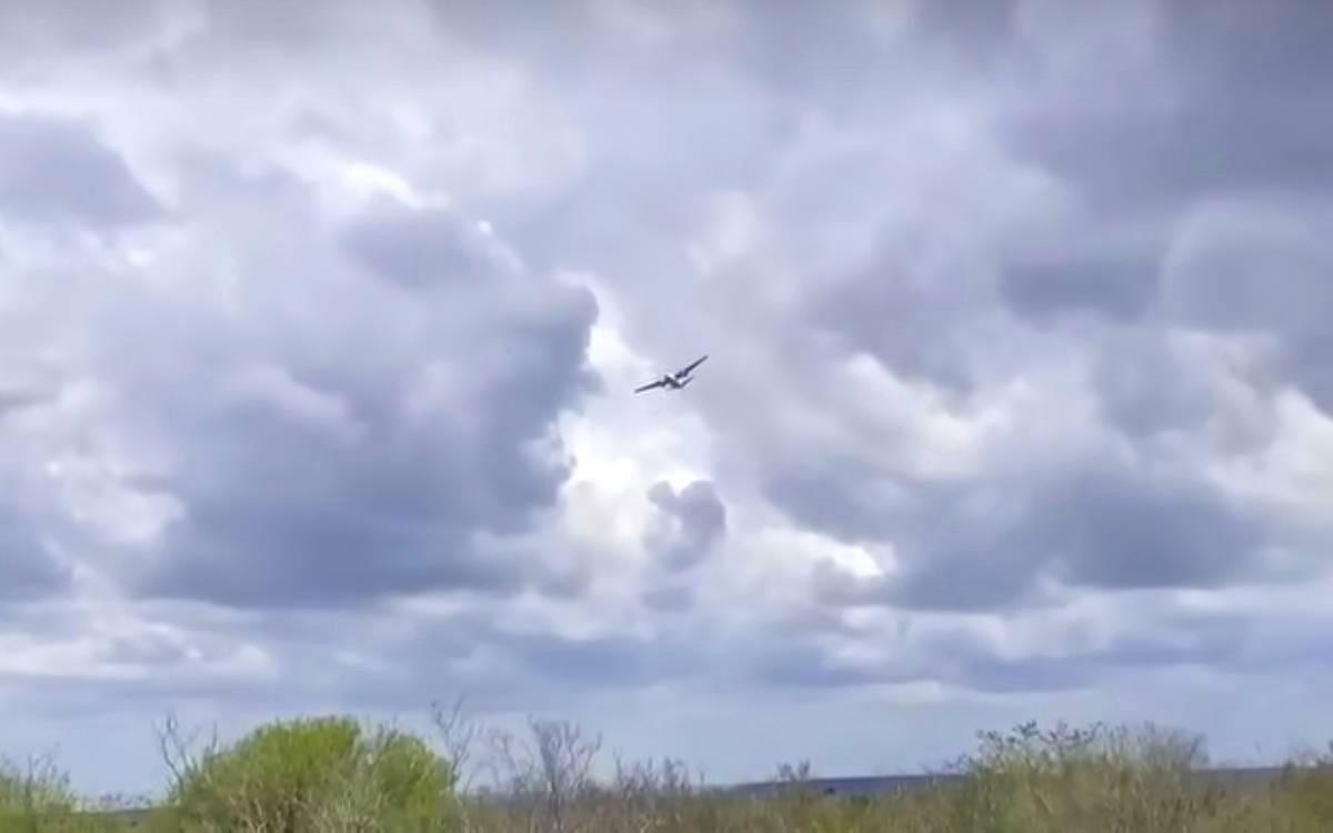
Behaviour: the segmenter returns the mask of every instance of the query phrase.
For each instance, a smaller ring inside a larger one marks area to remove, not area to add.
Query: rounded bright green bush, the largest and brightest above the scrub
[[[177,744],[177,750],[181,746]],[[449,830],[455,773],[420,738],[345,717],[279,721],[176,773],[161,829]]]

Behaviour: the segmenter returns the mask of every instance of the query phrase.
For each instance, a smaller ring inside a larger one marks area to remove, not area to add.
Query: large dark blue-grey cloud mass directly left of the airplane
[[[457,249],[432,240],[463,240],[457,219],[357,223],[383,235],[377,267],[420,268],[429,292],[385,295],[383,272],[312,276],[305,291],[284,275],[276,289],[277,264],[259,257],[249,287],[264,291],[244,324],[153,297],[101,309],[116,347],[99,359],[136,397],[128,429],[171,438],[155,488],[184,509],[139,592],[240,606],[528,582],[577,593],[577,576],[504,536],[531,532],[569,474],[552,420],[596,384],[591,295],[495,265],[460,272]],[[163,324],[144,331],[153,313]]]

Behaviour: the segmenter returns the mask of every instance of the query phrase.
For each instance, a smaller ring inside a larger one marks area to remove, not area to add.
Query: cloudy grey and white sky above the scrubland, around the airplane
[[[1333,736],[1333,16],[0,12],[0,738]],[[684,393],[631,391],[701,353]]]

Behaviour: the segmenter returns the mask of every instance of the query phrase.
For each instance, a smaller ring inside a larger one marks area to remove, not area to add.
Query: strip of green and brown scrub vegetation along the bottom
[[[984,733],[949,778],[892,796],[825,796],[808,766],[778,770],[760,796],[710,789],[678,761],[624,764],[591,776],[600,738],[535,721],[527,737],[440,720],[443,752],[424,738],[344,717],[263,726],[195,754],[169,726],[172,784],[132,818],[95,813],[53,765],[0,768],[7,830],[459,830],[1282,833],[1333,830],[1333,746],[1290,761],[1262,784],[1200,777],[1197,737],[1145,728]],[[477,757],[477,752],[481,756]],[[491,788],[461,793],[465,765]]]

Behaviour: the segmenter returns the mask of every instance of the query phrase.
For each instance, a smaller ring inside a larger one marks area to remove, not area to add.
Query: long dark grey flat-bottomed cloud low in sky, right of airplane
[[[1218,588],[1260,576],[1269,533],[1202,481],[1092,461],[922,501],[889,536],[901,573],[854,580],[825,565],[813,580],[833,604],[942,610],[1041,604],[1042,580],[1102,590]]]

